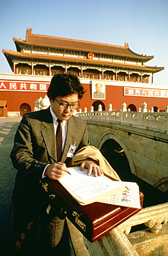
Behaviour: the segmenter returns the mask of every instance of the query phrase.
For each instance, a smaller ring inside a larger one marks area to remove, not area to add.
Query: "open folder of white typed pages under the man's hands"
[[[125,190],[122,185],[115,183],[104,175],[95,177],[94,174],[91,174],[91,176],[88,176],[88,169],[81,172],[80,167],[70,167],[68,172],[69,174],[67,173],[62,179],[59,179],[59,183],[81,205],[100,201],[107,196]]]

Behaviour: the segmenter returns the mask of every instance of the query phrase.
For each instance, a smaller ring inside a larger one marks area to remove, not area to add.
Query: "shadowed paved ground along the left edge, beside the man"
[[[12,255],[11,196],[17,171],[12,167],[10,151],[21,118],[0,118],[0,254]]]

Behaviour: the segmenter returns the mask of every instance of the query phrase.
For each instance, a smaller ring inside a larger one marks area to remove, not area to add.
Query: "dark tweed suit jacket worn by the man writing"
[[[66,143],[62,154],[64,163],[68,163],[67,154],[70,145],[75,145],[77,150],[88,145],[85,122],[71,116],[67,125]],[[50,156],[57,158],[56,147],[50,109],[24,114],[15,134],[14,147],[10,154],[12,164],[18,170],[12,196],[13,201],[35,203],[38,200],[44,167],[53,163]]]

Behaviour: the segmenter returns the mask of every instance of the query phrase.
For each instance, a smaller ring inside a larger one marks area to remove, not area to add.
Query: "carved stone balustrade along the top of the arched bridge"
[[[168,108],[165,109],[165,112],[153,112],[147,110],[147,104],[142,103],[142,109],[136,111],[128,111],[127,105],[122,104],[121,110],[113,110],[112,105],[109,104],[109,110],[102,111],[102,106],[99,106],[97,111],[93,110],[88,112],[87,109],[84,109],[84,112],[80,109],[79,113],[76,113],[76,116],[82,118],[83,120],[102,120],[108,122],[119,122],[124,125],[131,125],[135,127],[140,127],[142,129],[155,129],[156,131],[164,131],[168,133]]]

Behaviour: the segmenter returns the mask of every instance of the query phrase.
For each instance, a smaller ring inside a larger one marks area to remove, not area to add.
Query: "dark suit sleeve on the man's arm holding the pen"
[[[19,175],[25,176],[25,178],[31,176],[39,181],[47,163],[35,158],[31,133],[29,118],[24,115],[15,134],[14,147],[10,157],[13,166],[19,171]]]

